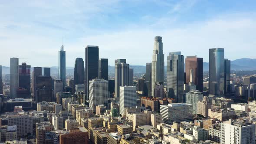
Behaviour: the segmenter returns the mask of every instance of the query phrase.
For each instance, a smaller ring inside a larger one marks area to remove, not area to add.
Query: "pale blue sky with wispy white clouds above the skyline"
[[[57,66],[64,37],[66,66],[85,59],[87,45],[99,57],[151,62],[154,36],[169,52],[203,57],[221,47],[225,58],[256,58],[256,0],[1,0],[0,65]]]

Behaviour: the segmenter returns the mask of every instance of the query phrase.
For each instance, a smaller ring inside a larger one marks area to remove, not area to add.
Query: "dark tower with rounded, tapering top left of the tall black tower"
[[[85,65],[82,58],[75,59],[74,85],[83,85],[85,83]]]

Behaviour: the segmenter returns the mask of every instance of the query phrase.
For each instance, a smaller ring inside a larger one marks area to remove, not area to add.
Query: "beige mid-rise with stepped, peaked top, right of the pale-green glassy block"
[[[211,108],[211,104],[206,96],[203,97],[203,101],[197,102],[197,114],[203,115],[204,117],[208,117],[209,108]]]

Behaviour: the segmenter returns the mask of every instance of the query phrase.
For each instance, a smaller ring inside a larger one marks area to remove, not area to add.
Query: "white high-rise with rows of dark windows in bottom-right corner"
[[[224,121],[220,125],[220,144],[255,144],[255,124],[243,121]]]

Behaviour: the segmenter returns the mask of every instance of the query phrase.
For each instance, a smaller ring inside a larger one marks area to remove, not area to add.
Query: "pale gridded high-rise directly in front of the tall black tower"
[[[96,113],[97,105],[108,106],[108,81],[93,79],[89,81],[89,107]]]

